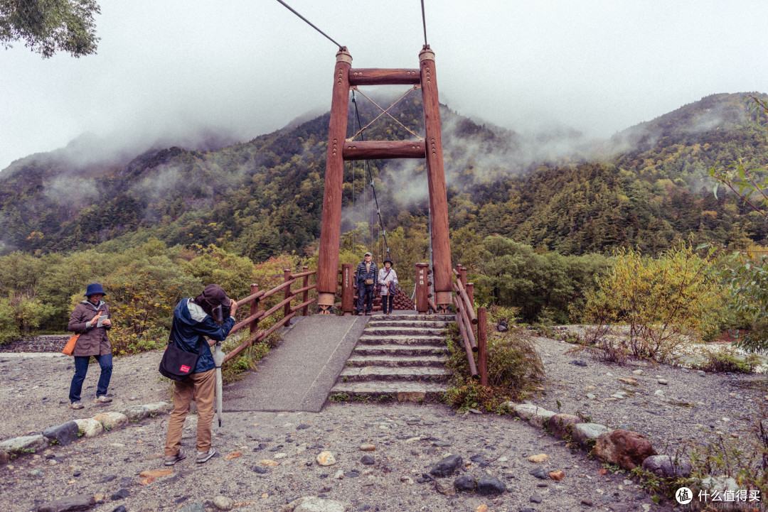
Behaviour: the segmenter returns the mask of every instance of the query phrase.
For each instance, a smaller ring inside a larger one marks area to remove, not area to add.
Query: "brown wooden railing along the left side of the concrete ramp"
[[[234,327],[232,327],[232,330],[230,330],[231,335],[233,333],[237,333],[237,331],[243,329],[243,327],[249,327],[250,335],[248,336],[247,340],[243,341],[243,343],[240,343],[240,346],[237,346],[237,348],[231,350],[227,353],[226,356],[224,356],[224,363],[227,363],[227,361],[232,359],[234,356],[237,356],[237,354],[245,350],[248,346],[253,345],[253,343],[266,340],[270,334],[274,333],[279,327],[282,327],[287,322],[289,322],[290,319],[293,318],[299,311],[301,311],[302,315],[306,317],[310,313],[310,304],[317,300],[316,298],[310,299],[310,290],[313,290],[316,287],[316,284],[310,285],[310,276],[315,275],[316,273],[317,271],[310,271],[310,267],[303,267],[303,272],[300,272],[299,274],[293,274],[290,268],[286,268],[283,271],[283,283],[277,285],[272,290],[259,290],[258,284],[251,284],[250,295],[243,299],[237,300],[238,309],[245,304],[250,304],[248,316],[243,320],[235,323]],[[301,280],[302,287],[296,290],[292,290],[291,286],[299,280]],[[283,300],[275,304],[273,307],[270,307],[268,310],[261,310],[260,304],[262,301],[268,297],[272,297],[274,294],[280,292],[280,290],[283,290]],[[299,296],[301,296],[301,304],[291,307],[290,303],[293,301],[293,299]],[[267,330],[258,330],[260,320],[264,320],[266,317],[276,313],[281,308],[283,310],[283,318],[276,321],[274,325]],[[215,341],[208,342],[208,344],[211,346],[213,346],[215,343]]]

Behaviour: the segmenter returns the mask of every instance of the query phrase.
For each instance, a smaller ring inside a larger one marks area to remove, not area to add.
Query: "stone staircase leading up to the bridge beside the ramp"
[[[330,396],[439,398],[451,375],[445,368],[445,328],[452,321],[451,315],[372,316]]]

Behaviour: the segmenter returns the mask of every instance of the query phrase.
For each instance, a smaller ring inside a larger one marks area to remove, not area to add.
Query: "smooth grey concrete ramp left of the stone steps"
[[[258,371],[224,388],[224,412],[320,412],[370,317],[299,317]]]

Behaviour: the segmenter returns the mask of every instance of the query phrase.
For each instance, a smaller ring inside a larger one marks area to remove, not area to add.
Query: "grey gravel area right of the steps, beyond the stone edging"
[[[547,386],[531,402],[554,412],[581,412],[611,428],[632,429],[649,438],[659,453],[674,454],[683,441],[708,444],[718,435],[746,438],[768,403],[764,374],[703,373],[647,363],[618,366],[586,351],[568,353],[571,343],[534,340],[545,363]],[[619,380],[627,378],[634,378],[637,386]],[[611,397],[621,391],[625,399]]]

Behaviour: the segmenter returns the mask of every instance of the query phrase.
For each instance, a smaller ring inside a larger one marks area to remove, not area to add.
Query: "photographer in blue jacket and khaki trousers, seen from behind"
[[[237,303],[227,297],[218,284],[209,284],[197,297],[180,300],[170,327],[170,343],[188,353],[199,353],[187,379],[174,381],[174,411],[168,420],[165,439],[165,465],[172,466],[187,457],[181,448],[181,431],[194,395],[197,403],[197,457],[203,463],[216,453],[210,445],[210,425],[214,421],[216,372],[214,356],[205,336],[223,341],[235,324]]]

